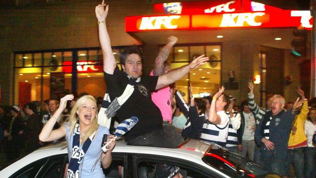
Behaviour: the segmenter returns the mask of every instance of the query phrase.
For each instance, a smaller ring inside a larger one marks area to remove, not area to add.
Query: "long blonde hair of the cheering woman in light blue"
[[[84,105],[87,100],[93,101],[93,103],[95,104],[95,107],[96,107],[96,113],[95,113],[95,118],[92,119],[92,123],[90,125],[90,128],[88,129],[87,134],[82,139],[83,143],[86,142],[86,140],[90,137],[90,135],[92,135],[93,132],[96,131],[99,127],[99,125],[98,125],[98,107],[97,107],[97,103],[96,103],[95,98],[91,95],[85,95],[85,96],[79,98],[77,100],[76,104],[74,105],[74,107],[72,107],[72,109],[70,111],[70,116],[67,119],[67,122],[70,123],[70,133],[72,133],[75,126],[76,126],[76,123],[79,119],[79,115],[77,114],[77,110],[79,107]]]

